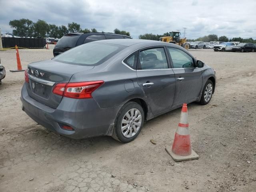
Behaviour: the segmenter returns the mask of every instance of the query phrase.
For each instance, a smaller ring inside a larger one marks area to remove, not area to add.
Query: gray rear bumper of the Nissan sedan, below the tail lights
[[[100,108],[94,99],[62,98],[58,108],[50,108],[21,91],[22,110],[38,124],[58,134],[74,138],[112,135],[114,121],[121,107]],[[60,124],[74,130],[64,130]]]

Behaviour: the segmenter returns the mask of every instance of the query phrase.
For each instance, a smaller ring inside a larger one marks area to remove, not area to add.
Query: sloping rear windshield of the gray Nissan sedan
[[[76,65],[99,65],[123,50],[126,46],[106,43],[86,43],[72,48],[52,60]]]

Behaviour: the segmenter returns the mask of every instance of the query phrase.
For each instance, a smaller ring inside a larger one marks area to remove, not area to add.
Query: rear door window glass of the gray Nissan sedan
[[[168,69],[164,48],[151,48],[140,51],[138,70]]]

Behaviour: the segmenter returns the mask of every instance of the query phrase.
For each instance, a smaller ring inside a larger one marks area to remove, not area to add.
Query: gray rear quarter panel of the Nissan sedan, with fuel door
[[[104,81],[104,84],[92,93],[92,97],[100,108],[122,106],[134,98],[146,100],[144,92],[137,83],[136,71],[124,66],[121,60],[113,65],[102,64],[90,72],[75,74],[70,82],[96,80]],[[133,86],[134,89],[132,89]]]

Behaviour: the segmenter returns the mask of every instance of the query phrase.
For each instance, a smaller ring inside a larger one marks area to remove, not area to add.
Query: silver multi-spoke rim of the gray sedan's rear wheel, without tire
[[[142,116],[138,109],[132,108],[126,112],[124,117],[122,118],[121,123],[121,132],[124,137],[131,138],[138,130],[140,130],[140,126],[142,123]]]

